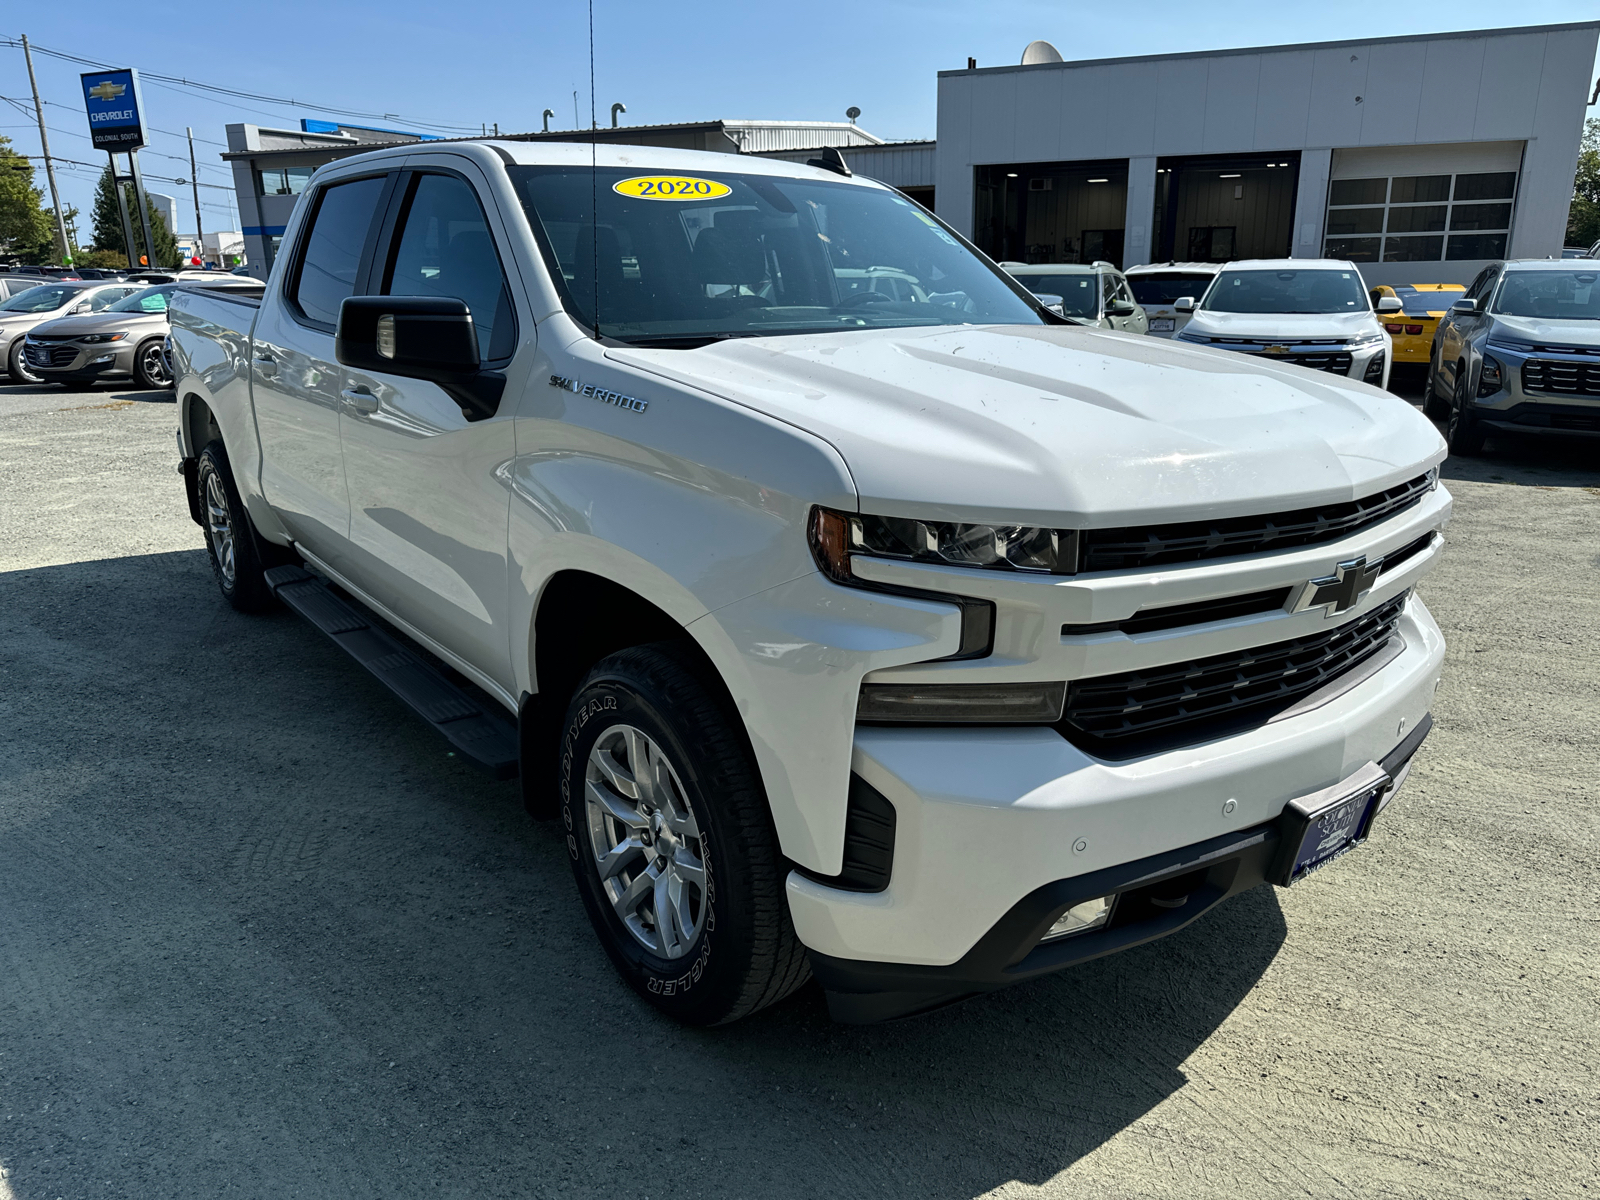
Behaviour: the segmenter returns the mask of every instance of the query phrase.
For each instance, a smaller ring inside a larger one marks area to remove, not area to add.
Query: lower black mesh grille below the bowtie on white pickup
[[[1074,680],[1056,730],[1101,758],[1133,758],[1254,728],[1376,654],[1408,597],[1325,634]]]

